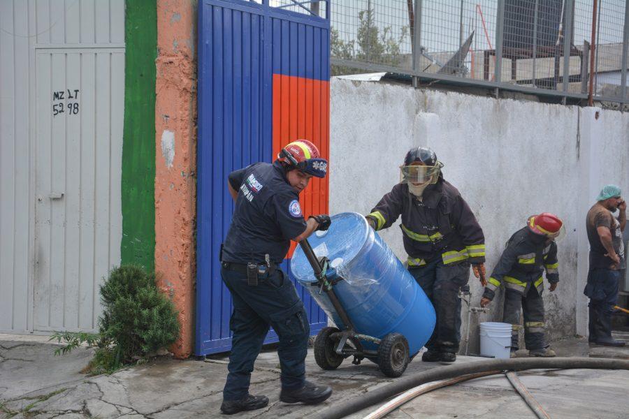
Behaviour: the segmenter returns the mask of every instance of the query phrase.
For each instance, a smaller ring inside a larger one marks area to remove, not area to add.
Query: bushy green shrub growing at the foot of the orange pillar
[[[166,348],[179,337],[178,311],[143,267],[123,265],[112,270],[101,285],[103,314],[99,333],[57,332],[50,339],[64,342],[55,355],[70,353],[82,344],[96,346],[89,374],[110,374]]]

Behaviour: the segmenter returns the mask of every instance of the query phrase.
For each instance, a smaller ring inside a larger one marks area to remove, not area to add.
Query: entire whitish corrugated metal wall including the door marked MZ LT
[[[120,263],[124,0],[1,0],[0,75],[0,330],[94,330]]]

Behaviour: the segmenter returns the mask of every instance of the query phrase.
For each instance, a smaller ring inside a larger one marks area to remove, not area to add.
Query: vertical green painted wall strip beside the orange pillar
[[[122,263],[155,265],[155,59],[157,4],[126,0]]]

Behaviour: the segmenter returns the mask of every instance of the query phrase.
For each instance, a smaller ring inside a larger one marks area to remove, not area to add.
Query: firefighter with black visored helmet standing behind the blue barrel
[[[375,230],[402,216],[408,270],[433,303],[435,331],[421,360],[454,362],[461,341],[461,298],[470,264],[484,281],[483,230],[458,190],[444,180],[433,150],[409,150],[393,186],[366,217]]]

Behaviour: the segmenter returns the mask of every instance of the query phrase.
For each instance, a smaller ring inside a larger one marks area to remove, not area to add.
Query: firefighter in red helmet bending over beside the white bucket
[[[493,269],[489,284],[481,300],[485,307],[505,284],[505,311],[503,321],[512,324],[511,357],[518,350],[520,310],[524,313],[524,341],[530,356],[554,357],[544,335],[544,279],[555,291],[559,282],[556,238],[563,231],[558,216],[543,212],[530,216],[527,226],[516,231],[507,242],[507,248]]]

